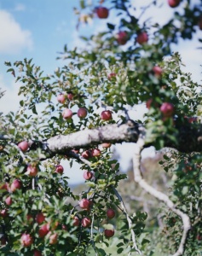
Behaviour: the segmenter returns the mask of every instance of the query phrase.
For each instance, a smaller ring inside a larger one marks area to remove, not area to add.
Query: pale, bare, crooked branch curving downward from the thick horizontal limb
[[[139,183],[142,189],[145,189],[150,195],[153,195],[155,198],[157,198],[159,201],[163,201],[167,207],[170,208],[170,210],[176,215],[178,215],[180,218],[182,218],[183,223],[183,234],[182,239],[180,242],[180,245],[176,251],[176,253],[173,254],[173,256],[179,256],[182,255],[185,249],[186,240],[188,237],[188,231],[191,229],[191,222],[190,218],[188,217],[188,214],[182,212],[176,206],[172,201],[170,201],[169,197],[167,195],[164,195],[164,193],[154,189],[152,186],[150,186],[142,177],[141,177],[141,171],[140,171],[140,162],[141,162],[141,150],[144,146],[144,139],[143,137],[139,137],[136,143],[136,152],[134,154],[133,158],[133,169],[134,169],[134,177],[136,183]]]

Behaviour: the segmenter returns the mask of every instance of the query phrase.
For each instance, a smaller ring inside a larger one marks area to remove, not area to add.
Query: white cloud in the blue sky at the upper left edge
[[[32,33],[23,30],[9,12],[0,10],[0,54],[17,54],[32,49],[32,44]]]

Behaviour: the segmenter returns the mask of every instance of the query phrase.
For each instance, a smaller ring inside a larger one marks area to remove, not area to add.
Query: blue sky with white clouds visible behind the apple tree
[[[144,3],[148,2],[150,0],[144,0]],[[164,23],[173,12],[165,2],[159,0],[159,3],[164,3],[163,9],[159,12],[149,9],[146,16],[152,14],[159,23]],[[197,3],[199,0],[194,2]],[[0,0],[0,88],[7,90],[0,102],[0,112],[17,110],[19,102],[18,86],[14,84],[14,78],[6,73],[7,67],[4,66],[4,61],[14,62],[25,57],[33,58],[33,62],[41,66],[45,73],[52,73],[62,64],[55,59],[64,44],[68,44],[69,48],[81,45],[79,34],[89,35],[105,29],[106,20],[95,19],[91,25],[82,25],[77,31],[77,18],[73,7],[78,3],[78,0]],[[140,4],[142,0],[136,0],[136,6]],[[110,20],[113,20],[113,23],[117,20],[113,12],[110,13],[107,22]],[[182,54],[182,60],[187,65],[185,70],[193,73],[193,79],[198,82],[202,80],[201,49],[197,49],[200,46],[197,38],[201,38],[201,35],[202,31],[199,31],[192,41],[181,42],[174,48]],[[135,110],[135,115],[142,115],[141,110],[143,111],[143,109]],[[138,118],[140,119],[140,116]],[[118,150],[123,151],[122,148]],[[124,150],[126,152],[124,163],[129,160],[127,158],[130,156],[129,151],[132,152],[131,148]]]

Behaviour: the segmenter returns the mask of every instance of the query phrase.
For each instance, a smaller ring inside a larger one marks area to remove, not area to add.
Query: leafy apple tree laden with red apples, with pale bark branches
[[[139,15],[136,1],[79,2],[79,30],[90,19],[118,21],[82,37],[84,49],[65,45],[64,66],[51,75],[26,58],[5,62],[23,100],[0,119],[1,255],[112,255],[114,237],[115,255],[199,255],[201,87],[172,45],[202,29],[201,3],[151,0]],[[173,17],[145,20],[150,8],[173,9]],[[128,114],[137,104],[147,106],[144,122]],[[134,143],[134,183],[162,203],[163,230],[149,233],[147,212],[124,206],[118,183],[126,175],[110,149],[123,142]],[[159,164],[172,177],[168,194],[141,174],[150,146],[166,148]],[[72,192],[61,160],[69,172],[79,163],[87,189]]]

